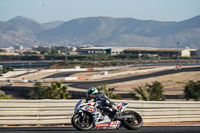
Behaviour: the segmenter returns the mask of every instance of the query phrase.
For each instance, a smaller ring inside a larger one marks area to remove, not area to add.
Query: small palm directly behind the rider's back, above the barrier
[[[120,98],[119,94],[113,93],[115,88],[112,88],[112,87],[108,88],[106,85],[97,86],[96,88],[99,91],[102,91],[103,93],[105,93],[106,96],[110,99],[119,99]]]

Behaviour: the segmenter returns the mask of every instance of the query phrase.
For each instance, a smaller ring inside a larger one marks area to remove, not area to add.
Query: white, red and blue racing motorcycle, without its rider
[[[119,129],[125,127],[129,130],[137,130],[143,124],[142,117],[135,111],[124,111],[128,103],[118,103],[120,110],[118,116],[112,116],[112,109],[101,107],[98,102],[86,102],[81,99],[74,108],[71,119],[74,128],[82,131],[96,129]]]

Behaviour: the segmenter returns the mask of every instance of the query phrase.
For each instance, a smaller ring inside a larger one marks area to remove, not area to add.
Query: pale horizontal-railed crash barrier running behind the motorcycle
[[[123,100],[114,100],[122,102]],[[77,100],[0,100],[0,125],[68,124]],[[132,101],[144,122],[200,121],[200,102]]]

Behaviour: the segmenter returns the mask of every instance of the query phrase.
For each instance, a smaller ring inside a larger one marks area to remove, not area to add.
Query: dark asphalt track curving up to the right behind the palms
[[[123,78],[115,78],[115,79],[102,80],[102,81],[63,82],[63,83],[67,83],[70,87],[74,87],[74,88],[88,89],[90,87],[99,86],[102,84],[120,83],[120,82],[126,82],[126,81],[131,81],[131,80],[145,79],[145,78],[175,74],[175,73],[180,73],[180,72],[191,72],[191,71],[200,71],[200,67],[182,68],[181,70],[176,70],[176,71],[174,69],[171,69],[171,70],[153,72],[149,74],[142,74],[142,75],[136,75],[136,76],[130,76],[130,77],[123,77]]]

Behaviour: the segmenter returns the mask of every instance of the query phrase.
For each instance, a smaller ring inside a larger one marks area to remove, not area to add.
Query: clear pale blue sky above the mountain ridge
[[[45,23],[108,16],[181,21],[200,15],[200,0],[0,0],[0,21],[15,16]]]

